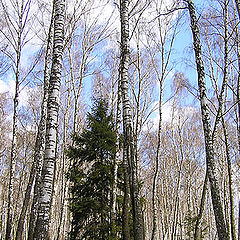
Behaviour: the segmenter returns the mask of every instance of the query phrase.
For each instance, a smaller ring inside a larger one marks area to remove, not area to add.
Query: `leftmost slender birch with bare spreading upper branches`
[[[13,192],[14,192],[14,178],[16,170],[16,143],[17,143],[17,128],[18,128],[18,105],[20,85],[26,78],[21,74],[21,55],[24,46],[27,43],[28,31],[28,17],[30,11],[31,0],[16,1],[6,3],[1,0],[0,6],[3,11],[3,16],[6,19],[6,25],[0,30],[3,37],[5,49],[3,53],[9,58],[12,70],[15,76],[15,93],[13,99],[13,123],[12,123],[12,147],[9,161],[9,185],[8,185],[8,207],[7,207],[7,221],[6,221],[6,234],[5,239],[11,238],[13,227]],[[9,12],[12,10],[12,15]],[[29,71],[31,71],[30,68]]]

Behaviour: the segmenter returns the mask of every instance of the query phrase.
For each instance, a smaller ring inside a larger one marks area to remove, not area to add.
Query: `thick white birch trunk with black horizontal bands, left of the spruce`
[[[59,92],[64,44],[65,0],[54,0],[52,68],[47,103],[46,145],[43,161],[38,217],[34,239],[50,239],[49,219],[57,149]]]

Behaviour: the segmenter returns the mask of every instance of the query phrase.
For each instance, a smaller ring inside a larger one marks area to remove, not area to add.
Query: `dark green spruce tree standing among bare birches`
[[[111,221],[111,190],[114,181],[116,133],[107,102],[94,100],[87,115],[87,128],[74,134],[68,177],[71,181],[70,239],[115,239]]]

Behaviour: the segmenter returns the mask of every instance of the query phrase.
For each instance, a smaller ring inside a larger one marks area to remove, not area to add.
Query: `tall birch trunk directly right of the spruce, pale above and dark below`
[[[128,169],[130,175],[130,194],[133,211],[133,228],[134,239],[143,240],[144,225],[140,203],[138,170],[136,159],[136,146],[134,146],[133,129],[131,123],[131,109],[128,93],[128,68],[129,68],[129,15],[128,0],[120,1],[120,18],[121,18],[121,90],[123,104],[123,130],[125,141],[125,153],[128,161]]]

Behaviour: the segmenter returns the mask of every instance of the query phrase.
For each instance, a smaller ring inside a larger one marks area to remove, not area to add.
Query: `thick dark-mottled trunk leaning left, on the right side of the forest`
[[[207,104],[207,95],[206,95],[206,83],[205,83],[205,71],[202,61],[202,50],[201,50],[201,42],[200,42],[200,34],[199,27],[197,23],[197,17],[195,13],[195,8],[192,0],[186,0],[188,4],[188,10],[191,18],[191,28],[193,34],[193,44],[197,65],[197,73],[198,73],[198,88],[200,94],[200,103],[201,103],[201,111],[202,111],[202,122],[204,129],[204,138],[205,138],[205,151],[206,151],[206,162],[207,162],[207,174],[210,182],[211,196],[212,196],[212,204],[214,209],[215,221],[217,226],[217,233],[219,240],[227,240],[230,239],[229,234],[227,232],[223,206],[220,197],[220,191],[217,181],[217,173],[216,173],[216,162],[215,162],[215,154],[213,148],[213,139],[212,139],[212,131],[210,124],[210,116]]]

